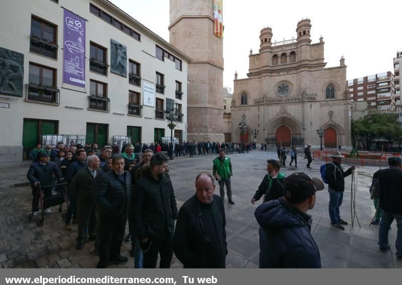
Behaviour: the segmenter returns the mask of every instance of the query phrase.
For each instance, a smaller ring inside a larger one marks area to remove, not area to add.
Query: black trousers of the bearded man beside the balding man
[[[173,237],[170,235],[163,241],[152,241],[148,251],[144,252],[143,268],[156,268],[158,253],[160,254],[159,268],[170,268],[173,258],[172,242]]]

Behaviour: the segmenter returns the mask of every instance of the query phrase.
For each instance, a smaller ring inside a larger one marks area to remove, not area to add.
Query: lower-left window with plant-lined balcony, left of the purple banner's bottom
[[[27,101],[59,104],[59,89],[56,85],[56,70],[29,64]]]

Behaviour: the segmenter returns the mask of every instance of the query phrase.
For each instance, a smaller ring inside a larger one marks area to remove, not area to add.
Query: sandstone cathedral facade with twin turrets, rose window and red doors
[[[247,78],[234,79],[231,132],[233,141],[320,146],[351,146],[351,103],[346,65],[327,67],[324,41],[311,43],[311,22],[297,23],[297,38],[272,42],[272,29],[260,33],[259,53],[249,55]],[[239,124],[247,128],[243,130]],[[256,138],[252,130],[258,130]]]

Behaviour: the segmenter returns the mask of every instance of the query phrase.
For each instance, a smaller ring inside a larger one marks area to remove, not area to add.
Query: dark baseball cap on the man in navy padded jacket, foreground
[[[321,179],[305,172],[296,172],[285,178],[286,198],[289,202],[301,202],[324,189]]]

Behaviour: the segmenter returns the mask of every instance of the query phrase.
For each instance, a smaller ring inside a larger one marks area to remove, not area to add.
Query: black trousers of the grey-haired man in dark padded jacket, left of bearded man
[[[99,262],[96,268],[106,268],[109,260],[120,256],[127,212],[121,216],[99,215]]]

